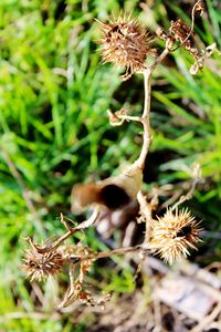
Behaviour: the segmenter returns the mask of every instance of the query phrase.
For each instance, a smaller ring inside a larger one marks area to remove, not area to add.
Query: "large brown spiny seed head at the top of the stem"
[[[150,48],[150,38],[136,19],[119,17],[116,22],[109,20],[102,24],[102,58],[104,62],[113,62],[125,68],[123,81],[128,80],[135,72],[146,68],[148,53],[155,53]]]

